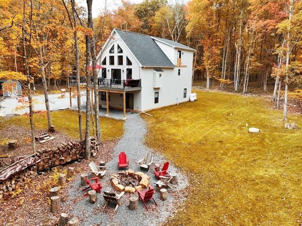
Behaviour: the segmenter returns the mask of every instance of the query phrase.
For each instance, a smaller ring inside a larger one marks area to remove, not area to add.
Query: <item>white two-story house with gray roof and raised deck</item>
[[[114,29],[96,58],[99,104],[148,111],[189,101],[193,52],[175,41]]]

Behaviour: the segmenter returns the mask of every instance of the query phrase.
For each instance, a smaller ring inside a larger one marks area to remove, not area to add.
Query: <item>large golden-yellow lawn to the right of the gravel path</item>
[[[190,182],[185,206],[166,225],[300,225],[302,132],[284,125],[301,126],[302,117],[284,122],[260,97],[195,92],[194,102],[142,116],[146,143]]]

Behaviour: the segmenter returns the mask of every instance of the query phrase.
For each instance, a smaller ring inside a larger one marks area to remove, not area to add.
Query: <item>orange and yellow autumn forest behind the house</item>
[[[221,89],[227,83],[235,92],[248,93],[253,81],[264,92],[274,84],[276,107],[280,98],[287,101],[287,95],[302,99],[300,0],[122,1],[114,10],[104,1],[104,9],[93,18],[93,29],[87,26],[87,9],[77,5],[77,21],[70,25],[71,2],[0,2],[0,78],[8,77],[8,72],[11,78],[26,75],[26,52],[29,75],[35,81],[45,77],[48,87],[66,81],[76,70],[75,31],[79,73],[84,76],[85,36],[93,34],[97,54],[111,31],[119,28],[196,49],[193,78],[205,79],[208,89],[218,82]]]

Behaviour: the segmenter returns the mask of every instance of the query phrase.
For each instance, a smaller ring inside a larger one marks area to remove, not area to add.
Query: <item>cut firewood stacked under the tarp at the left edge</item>
[[[11,191],[23,189],[27,181],[37,175],[37,167],[32,165],[10,179],[0,182],[0,199]]]

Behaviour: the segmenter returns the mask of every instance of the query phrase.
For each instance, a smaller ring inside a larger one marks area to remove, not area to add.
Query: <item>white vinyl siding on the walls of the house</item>
[[[133,94],[133,110],[147,111],[159,107],[174,105],[181,102],[189,101],[191,93],[191,77],[192,77],[192,63],[193,51],[174,48],[168,44],[156,41],[163,52],[167,55],[169,60],[177,65],[178,54],[181,51],[181,65],[186,67],[175,68],[161,68],[161,67],[142,67],[132,54],[128,46],[120,38],[120,36],[113,32],[113,38],[108,39],[105,43],[102,56],[97,59],[97,64],[100,64],[107,57],[107,65],[103,66],[107,71],[107,79],[111,79],[112,69],[121,70],[121,80],[127,79],[127,69],[132,69],[132,79],[141,79],[141,90],[126,91]],[[114,53],[109,53],[110,48],[114,44]],[[118,53],[118,45],[123,50]],[[141,51],[144,51],[142,49]],[[183,54],[182,54],[183,53]],[[146,53],[147,54],[147,53]],[[114,55],[115,65],[109,65],[109,56]],[[118,55],[123,55],[123,65],[118,65]],[[126,57],[129,58],[132,65],[127,65]],[[161,86],[154,88],[154,70],[163,70],[163,81]],[[180,69],[180,76],[178,70]],[[109,72],[108,72],[109,70]],[[102,76],[102,70],[99,70],[98,77]],[[186,89],[186,97],[184,97],[184,89]],[[155,103],[155,92],[159,93],[159,102]],[[99,98],[100,99],[100,98]],[[123,97],[120,93],[110,93],[110,106],[123,108]],[[99,101],[99,105],[106,104],[106,101]]]

